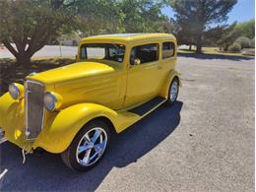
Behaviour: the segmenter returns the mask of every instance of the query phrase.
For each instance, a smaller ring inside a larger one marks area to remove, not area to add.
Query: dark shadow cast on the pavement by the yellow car
[[[123,167],[142,158],[157,147],[179,125],[183,103],[162,105],[157,110],[115,136],[105,157],[92,170],[77,173],[67,168],[59,155],[44,153],[27,156],[22,164],[22,151],[5,142],[0,146],[2,191],[95,191],[113,167]],[[1,173],[0,172],[0,173]]]

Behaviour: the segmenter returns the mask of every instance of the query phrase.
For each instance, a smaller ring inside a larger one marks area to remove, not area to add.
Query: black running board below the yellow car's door
[[[136,106],[135,108],[132,108],[128,111],[138,114],[140,116],[144,116],[145,114],[149,113],[152,109],[157,108],[165,100],[166,100],[165,98],[163,98],[161,96],[157,96],[157,97],[149,100],[148,102],[145,102],[140,106]]]

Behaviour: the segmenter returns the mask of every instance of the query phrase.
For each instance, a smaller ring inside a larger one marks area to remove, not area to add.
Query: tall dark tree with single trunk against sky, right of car
[[[204,32],[211,27],[227,20],[227,14],[237,0],[169,0],[168,3],[175,12],[177,23],[187,24],[187,28],[196,41],[197,53],[202,52]]]

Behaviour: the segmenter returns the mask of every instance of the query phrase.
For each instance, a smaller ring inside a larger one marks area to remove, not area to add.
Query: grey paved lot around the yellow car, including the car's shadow
[[[6,142],[1,190],[254,191],[254,60],[178,58],[178,102],[160,108],[112,142],[90,172],[56,155],[31,155]]]

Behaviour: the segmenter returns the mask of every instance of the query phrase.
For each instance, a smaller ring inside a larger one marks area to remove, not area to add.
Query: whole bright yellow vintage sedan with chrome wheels
[[[9,86],[0,97],[0,127],[24,152],[61,154],[70,168],[88,170],[102,159],[110,133],[175,102],[176,50],[169,33],[86,37],[76,63]]]

